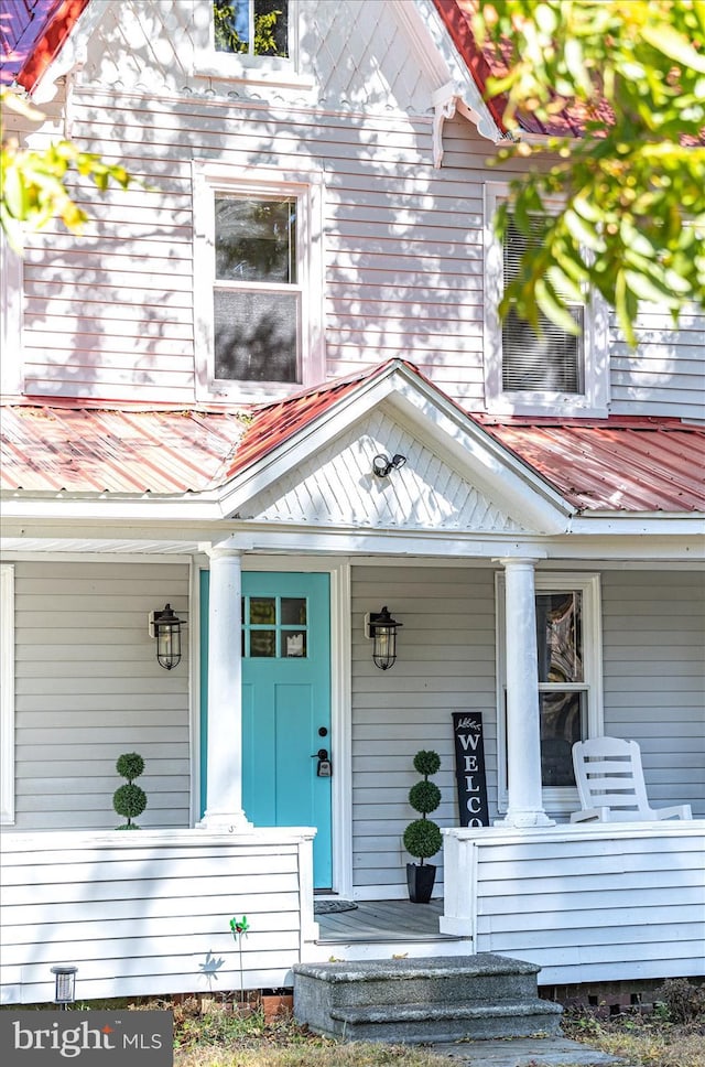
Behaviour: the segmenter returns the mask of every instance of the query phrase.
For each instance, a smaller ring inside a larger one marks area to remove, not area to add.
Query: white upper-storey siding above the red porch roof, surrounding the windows
[[[198,77],[202,4],[209,0],[164,0],[153,10],[126,0],[88,43],[72,134],[143,184],[99,196],[80,179],[85,234],[50,224],[28,240],[25,392],[193,403],[203,355],[194,340],[192,161],[235,173],[295,171],[303,161],[325,172],[326,375],[403,357],[481,410],[484,185],[524,163],[489,172],[495,150],[456,116],[444,126],[443,166],[433,166],[436,86],[392,6],[305,0],[302,60],[314,85],[302,94]],[[55,125],[34,141],[54,133]],[[684,316],[674,331],[644,309],[639,334],[634,354],[610,335],[611,410],[703,418],[703,319]]]

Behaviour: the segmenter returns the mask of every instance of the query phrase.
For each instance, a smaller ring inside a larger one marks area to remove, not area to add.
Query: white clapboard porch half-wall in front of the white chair
[[[705,974],[705,820],[444,830],[441,930],[541,984]]]

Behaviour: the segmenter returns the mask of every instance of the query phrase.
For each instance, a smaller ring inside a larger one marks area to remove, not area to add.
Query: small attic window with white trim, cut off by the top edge
[[[195,74],[311,88],[301,69],[299,0],[210,0],[194,25]]]

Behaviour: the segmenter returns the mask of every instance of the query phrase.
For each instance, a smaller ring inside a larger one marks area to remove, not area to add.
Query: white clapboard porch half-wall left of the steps
[[[55,963],[78,968],[78,1001],[291,984],[318,936],[313,837],[3,832],[2,1003],[51,1001]]]

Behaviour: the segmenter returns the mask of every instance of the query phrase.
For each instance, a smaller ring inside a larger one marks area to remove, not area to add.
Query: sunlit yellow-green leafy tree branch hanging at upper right
[[[640,301],[705,310],[705,0],[480,0],[474,29],[506,67],[498,158],[530,163],[496,219],[532,238],[500,315],[576,333],[568,304],[595,291],[636,347]],[[576,114],[581,138],[520,139],[522,116]]]

